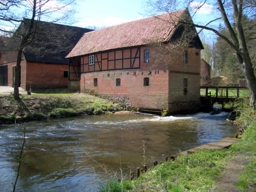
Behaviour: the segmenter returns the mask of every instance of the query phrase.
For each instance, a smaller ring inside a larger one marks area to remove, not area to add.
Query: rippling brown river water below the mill
[[[227,113],[159,117],[139,114],[65,118],[0,126],[0,191],[12,191],[23,128],[26,162],[17,191],[97,191],[99,183],[224,137],[236,128]],[[120,169],[122,167],[122,169]],[[129,176],[126,176],[127,178]]]

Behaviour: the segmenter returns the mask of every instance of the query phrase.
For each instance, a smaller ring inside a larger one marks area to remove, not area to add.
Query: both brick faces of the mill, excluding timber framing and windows
[[[94,71],[81,74],[82,92],[100,95],[129,97],[134,107],[168,109],[171,112],[189,110],[199,106],[200,99],[200,50],[170,44],[144,46],[140,49],[139,69]],[[149,62],[143,61],[145,49],[150,51]],[[183,63],[183,51],[188,52],[188,63]],[[149,86],[143,79],[149,78]],[[97,78],[97,86],[94,86]],[[116,86],[120,78],[121,85]],[[183,78],[187,78],[187,93],[184,94]]]

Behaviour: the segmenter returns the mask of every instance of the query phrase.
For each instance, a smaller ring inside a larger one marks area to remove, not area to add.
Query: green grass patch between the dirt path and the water
[[[201,150],[155,167],[134,182],[138,191],[209,191],[225,167],[225,150]]]

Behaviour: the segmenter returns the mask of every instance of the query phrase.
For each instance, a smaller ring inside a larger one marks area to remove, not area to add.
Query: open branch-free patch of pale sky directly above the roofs
[[[113,26],[147,17],[145,0],[79,0],[76,2],[75,26]]]

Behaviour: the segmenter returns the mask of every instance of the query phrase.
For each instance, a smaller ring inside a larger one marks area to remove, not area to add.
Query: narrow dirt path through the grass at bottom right
[[[236,187],[236,183],[239,181],[238,174],[241,173],[246,165],[250,162],[250,157],[252,157],[252,155],[236,154],[234,158],[230,160],[230,163],[227,165],[226,169],[223,171],[221,177],[219,178],[219,183],[217,183],[217,187],[211,189],[211,192],[238,191]]]

